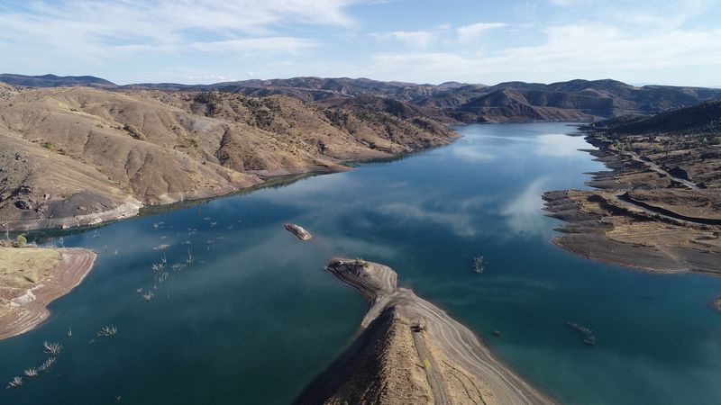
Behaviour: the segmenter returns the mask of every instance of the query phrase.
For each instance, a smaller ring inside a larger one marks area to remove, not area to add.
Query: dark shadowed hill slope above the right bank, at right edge
[[[587,127],[610,134],[673,134],[721,136],[721,101],[661,112],[652,116],[623,116]]]

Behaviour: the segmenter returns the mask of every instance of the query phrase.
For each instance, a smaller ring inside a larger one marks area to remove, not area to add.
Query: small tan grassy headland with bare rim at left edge
[[[78,286],[95,260],[83,248],[0,246],[0,339],[47,320],[47,305]]]

